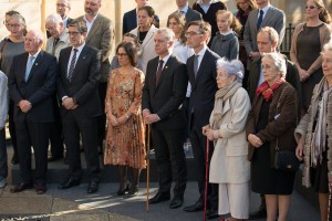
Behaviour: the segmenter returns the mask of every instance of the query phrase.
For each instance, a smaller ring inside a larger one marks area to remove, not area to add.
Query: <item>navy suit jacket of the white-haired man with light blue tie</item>
[[[54,119],[52,96],[55,92],[58,66],[55,56],[41,51],[31,69],[28,82],[24,80],[27,52],[13,57],[9,75],[9,95],[14,102],[14,120],[51,123]],[[19,102],[28,99],[32,108],[25,114],[18,106]]]

